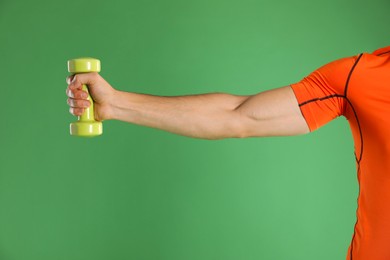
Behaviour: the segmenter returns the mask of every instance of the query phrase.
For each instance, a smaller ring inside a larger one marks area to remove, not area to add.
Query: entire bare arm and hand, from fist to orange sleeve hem
[[[70,113],[79,116],[94,100],[95,119],[120,120],[201,139],[291,136],[309,128],[290,86],[237,96],[224,93],[162,97],[114,89],[98,73],[67,78]]]

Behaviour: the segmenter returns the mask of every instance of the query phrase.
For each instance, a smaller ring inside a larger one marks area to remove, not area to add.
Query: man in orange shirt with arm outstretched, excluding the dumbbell
[[[68,104],[97,120],[116,119],[203,139],[309,133],[345,116],[360,185],[348,260],[390,259],[390,46],[331,62],[301,82],[252,96],[159,97],[113,89],[97,73],[68,78]]]

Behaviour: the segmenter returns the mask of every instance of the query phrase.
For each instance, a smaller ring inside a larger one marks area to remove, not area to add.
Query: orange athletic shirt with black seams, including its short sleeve
[[[291,85],[311,131],[345,116],[355,143],[357,221],[347,260],[390,260],[390,46]]]

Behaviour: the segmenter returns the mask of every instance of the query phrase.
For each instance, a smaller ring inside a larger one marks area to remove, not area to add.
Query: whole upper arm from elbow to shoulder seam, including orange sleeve
[[[236,109],[242,135],[305,134],[343,115],[348,76],[358,61],[358,56],[339,59],[296,84],[248,97]]]

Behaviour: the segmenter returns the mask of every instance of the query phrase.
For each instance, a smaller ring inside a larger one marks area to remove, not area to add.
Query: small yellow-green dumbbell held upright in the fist
[[[78,58],[68,60],[68,71],[73,74],[100,72],[100,61],[93,58]],[[88,93],[88,87],[83,85],[83,90]],[[85,109],[76,122],[70,124],[70,134],[74,136],[93,137],[103,133],[102,122],[95,121],[93,100],[88,93],[91,106]]]

